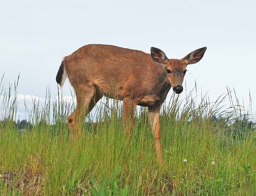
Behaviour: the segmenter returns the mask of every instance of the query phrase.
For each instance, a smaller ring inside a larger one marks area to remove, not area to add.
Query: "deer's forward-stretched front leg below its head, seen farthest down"
[[[163,155],[160,141],[160,109],[161,105],[158,105],[157,107],[148,107],[148,119],[152,126],[152,134],[155,139],[155,150],[157,152],[158,162],[163,166]]]

